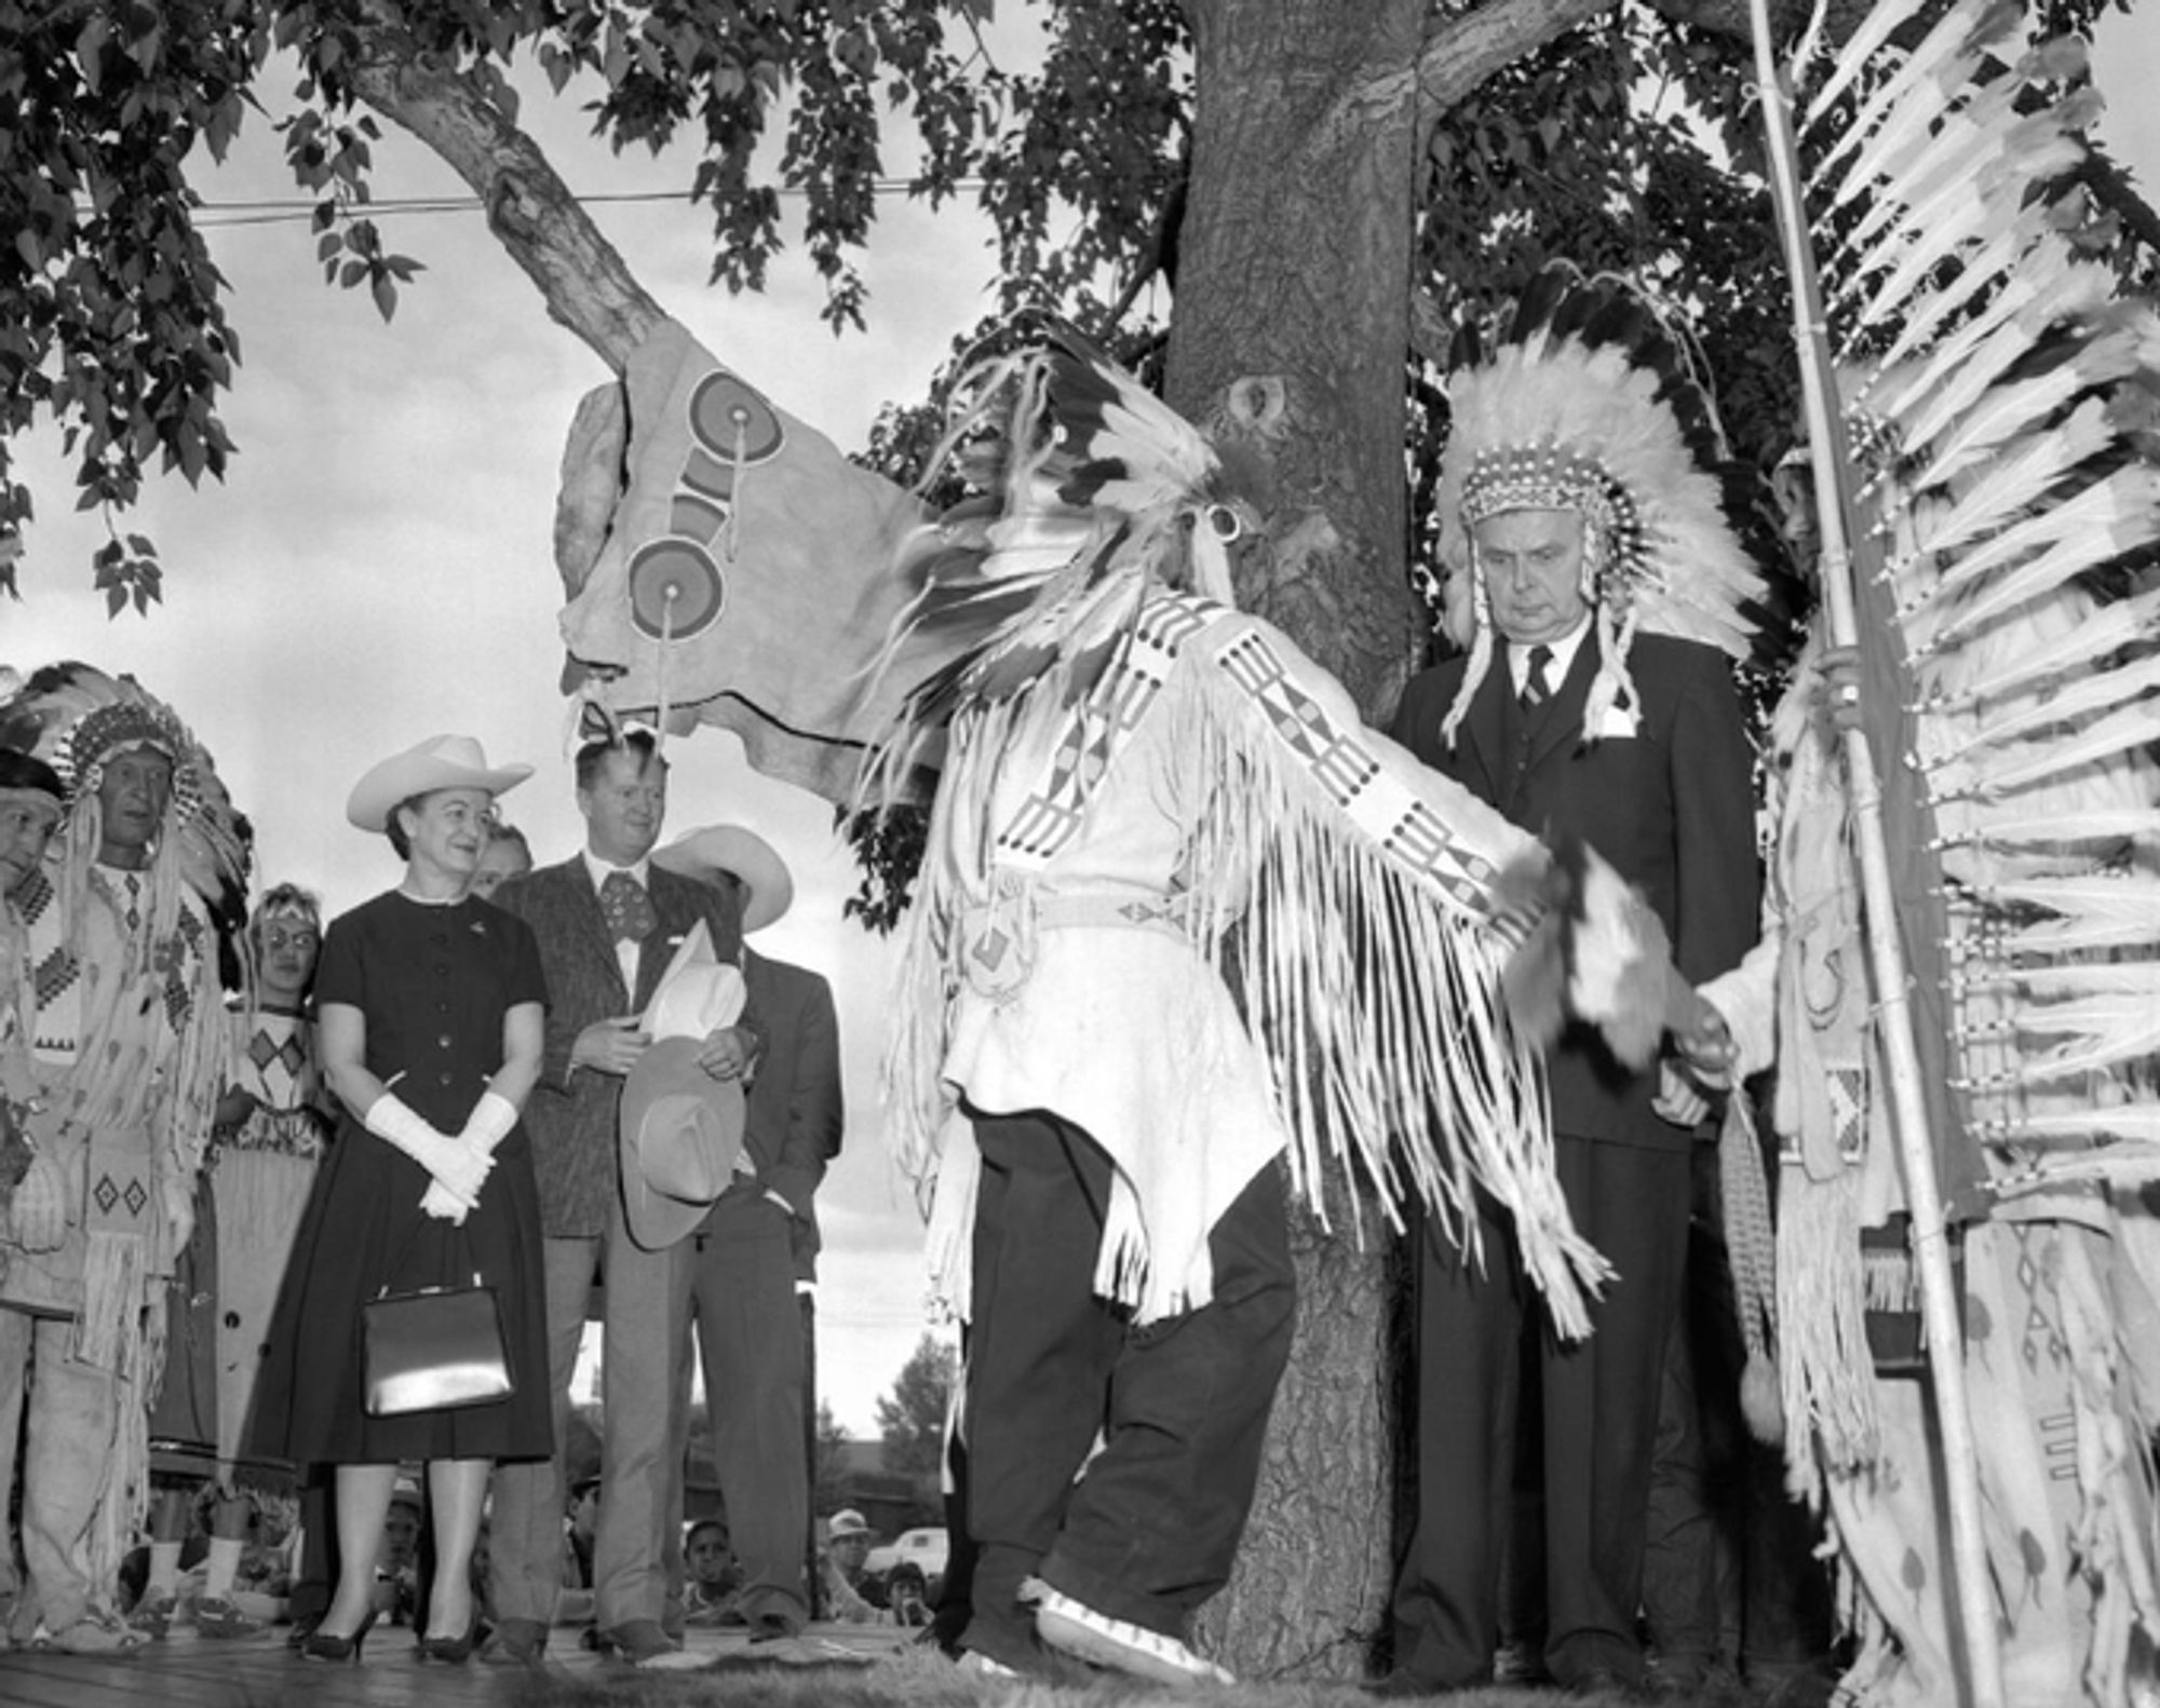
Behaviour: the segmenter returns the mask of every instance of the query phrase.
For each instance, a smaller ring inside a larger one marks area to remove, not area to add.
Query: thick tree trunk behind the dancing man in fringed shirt
[[[1272,546],[1246,555],[1242,602],[1378,717],[1415,654],[1404,361],[1426,4],[1190,0],[1188,15],[1201,93],[1169,402],[1270,475]],[[1305,1216],[1294,1248],[1290,1373],[1201,1641],[1244,1678],[1354,1678],[1393,1555],[1385,1252]]]

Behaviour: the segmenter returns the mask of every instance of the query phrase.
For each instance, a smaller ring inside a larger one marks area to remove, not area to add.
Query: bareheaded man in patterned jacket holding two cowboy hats
[[[546,1233],[549,1382],[555,1460],[495,1473],[490,1604],[497,1630],[482,1658],[534,1663],[562,1589],[562,1440],[570,1375],[594,1274],[605,1274],[600,1518],[594,1542],[594,1619],[633,1663],[674,1650],[661,1626],[665,1574],[650,1537],[674,1486],[670,1393],[674,1343],[665,1315],[639,1309],[667,1274],[624,1224],[616,1119],[622,1080],[650,1039],[639,1015],[683,939],[704,922],[721,961],[741,957],[741,922],[717,890],[652,866],[667,812],[667,764],[652,736],[592,741],[577,754],[585,849],[559,866],[510,879],[495,903],[523,918],[546,970],[546,1056],[525,1106]],[[698,1065],[741,1077],[758,1049],[756,1000],[700,1045]]]

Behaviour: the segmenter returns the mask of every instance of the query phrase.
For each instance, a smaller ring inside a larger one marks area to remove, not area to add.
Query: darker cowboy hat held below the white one
[[[622,1084],[622,1218],[646,1250],[683,1239],[734,1179],[743,1082],[698,1067],[702,1039],[661,1039]]]

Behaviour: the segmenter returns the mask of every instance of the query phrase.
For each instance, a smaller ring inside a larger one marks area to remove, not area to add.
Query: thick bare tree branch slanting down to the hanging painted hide
[[[421,54],[393,6],[356,30],[352,86],[473,186],[488,229],[540,287],[546,311],[618,374],[667,315],[579,205],[540,147],[456,71]]]

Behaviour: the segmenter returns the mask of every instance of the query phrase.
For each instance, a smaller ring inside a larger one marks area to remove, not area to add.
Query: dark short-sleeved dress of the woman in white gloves
[[[503,1060],[503,1015],[546,1002],[523,920],[477,898],[428,905],[391,890],[330,924],[318,1004],[367,1017],[367,1071],[436,1131],[458,1134]],[[540,1194],[518,1123],[495,1149],[480,1207],[423,1216],[430,1175],[346,1114],[294,1242],[255,1401],[251,1447],[311,1464],[538,1460],[553,1451]],[[495,1287],[514,1393],[490,1406],[367,1416],[361,1306],[473,1272]]]

